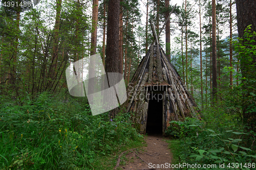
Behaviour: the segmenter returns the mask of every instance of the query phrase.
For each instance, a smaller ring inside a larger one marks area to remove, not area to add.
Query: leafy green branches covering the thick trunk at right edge
[[[251,32],[251,27],[248,26],[244,31],[244,38],[239,38],[234,41],[235,50],[239,53],[239,60],[241,62],[242,71],[242,108],[247,123],[255,125],[256,113],[256,88],[255,88],[255,58],[256,58],[256,45],[255,45],[256,32]],[[255,127],[252,127],[255,131]]]

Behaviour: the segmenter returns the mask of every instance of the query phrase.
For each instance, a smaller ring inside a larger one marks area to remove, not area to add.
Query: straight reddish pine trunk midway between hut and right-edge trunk
[[[212,0],[212,98],[217,100],[216,1]]]

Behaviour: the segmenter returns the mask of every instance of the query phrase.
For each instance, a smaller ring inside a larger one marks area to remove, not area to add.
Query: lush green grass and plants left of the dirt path
[[[27,96],[23,105],[5,100],[1,96],[1,169],[112,169],[116,159],[100,160],[141,140],[129,114],[92,116],[88,104],[48,93]]]

